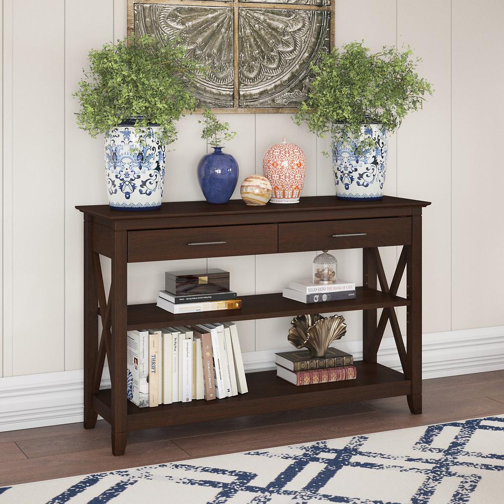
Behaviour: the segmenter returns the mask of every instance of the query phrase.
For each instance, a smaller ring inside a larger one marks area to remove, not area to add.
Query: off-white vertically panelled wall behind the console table
[[[498,157],[482,157],[475,147],[487,153],[498,145],[504,66],[495,37],[503,38],[503,17],[504,4],[496,0],[336,2],[338,45],[361,39],[372,49],[410,44],[435,88],[424,110],[408,117],[389,141],[386,187],[390,195],[433,202],[424,212],[424,332],[504,324],[497,309],[504,304]],[[106,203],[106,193],[103,143],[77,129],[71,94],[88,50],[125,32],[125,0],[3,0],[0,375],[82,367],[82,215],[74,206]],[[334,194],[330,160],[321,155],[327,141],[296,127],[287,114],[224,118],[238,132],[227,151],[238,160],[240,178],[261,172],[264,151],[286,136],[306,153],[303,195]],[[195,171],[206,144],[198,117],[182,119],[179,132],[167,155],[165,200],[202,199]],[[496,183],[475,194],[481,180],[475,167],[482,166],[495,170]],[[338,252],[342,275],[358,279],[361,257],[360,250]],[[301,271],[309,274],[312,258],[302,253],[132,264],[128,297],[153,301],[164,271],[182,265],[226,268],[232,288],[243,295],[277,291]],[[384,250],[389,272],[396,259],[395,247]],[[464,293],[467,279],[476,286],[472,297]],[[488,299],[494,304],[488,306]],[[360,339],[361,314],[346,315],[345,338]],[[243,350],[285,347],[288,320],[241,323]],[[404,313],[400,320],[404,324]]]

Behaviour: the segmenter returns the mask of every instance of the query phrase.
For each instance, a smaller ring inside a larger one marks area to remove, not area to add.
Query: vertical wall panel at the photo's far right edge
[[[504,3],[453,2],[452,330],[504,323]]]

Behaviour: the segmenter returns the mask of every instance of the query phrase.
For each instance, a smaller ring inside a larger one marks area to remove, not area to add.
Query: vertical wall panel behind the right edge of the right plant
[[[451,325],[450,3],[398,1],[398,45],[409,44],[421,55],[418,73],[435,89],[423,110],[406,117],[398,132],[398,194],[414,199],[429,195],[433,202],[423,215],[424,243],[435,243],[423,250],[428,267],[423,278],[424,333],[449,331]]]

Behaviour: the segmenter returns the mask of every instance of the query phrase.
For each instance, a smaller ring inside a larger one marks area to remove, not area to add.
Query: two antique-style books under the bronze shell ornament
[[[275,355],[277,376],[296,386],[355,380],[357,377],[353,356],[336,348],[328,348],[325,357],[321,358],[311,357],[308,350]]]

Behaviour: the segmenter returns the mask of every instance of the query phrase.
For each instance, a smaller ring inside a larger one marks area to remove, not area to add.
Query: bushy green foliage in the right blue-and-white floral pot
[[[432,94],[431,85],[416,73],[420,61],[409,47],[372,53],[362,42],[352,42],[334,48],[312,63],[310,92],[294,122],[306,122],[311,132],[330,133],[333,139],[358,139],[362,126],[371,123],[393,133],[409,112],[421,108],[424,95]]]

